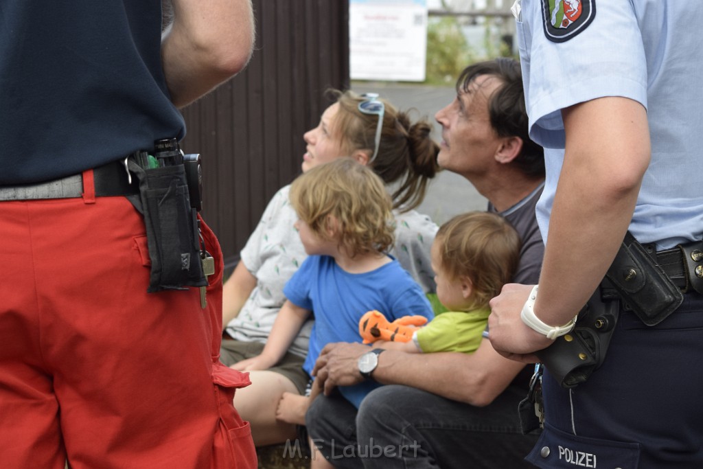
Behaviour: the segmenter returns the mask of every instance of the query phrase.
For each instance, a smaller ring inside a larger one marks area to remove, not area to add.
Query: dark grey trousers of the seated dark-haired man
[[[534,468],[523,461],[537,439],[520,432],[524,394],[509,387],[491,405],[475,407],[387,385],[370,392],[357,412],[335,393],[315,399],[307,429],[336,468]]]

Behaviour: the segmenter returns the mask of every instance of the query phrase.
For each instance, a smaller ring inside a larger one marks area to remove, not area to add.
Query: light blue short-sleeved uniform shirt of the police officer
[[[547,37],[546,22],[553,18],[546,18],[542,1],[522,0],[517,38],[530,136],[547,148],[546,186],[537,205],[545,241],[563,158],[560,110],[603,96],[624,96],[647,108],[652,160],[633,235],[657,242],[659,249],[702,238],[703,46],[677,47],[698,34],[698,9],[679,0],[595,1],[590,23],[556,42]],[[557,23],[564,18],[560,12],[558,17]]]

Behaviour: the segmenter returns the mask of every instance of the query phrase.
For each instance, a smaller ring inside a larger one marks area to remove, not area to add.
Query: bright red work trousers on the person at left
[[[0,202],[0,467],[255,468],[219,363],[222,256],[197,288],[146,293],[124,197]]]

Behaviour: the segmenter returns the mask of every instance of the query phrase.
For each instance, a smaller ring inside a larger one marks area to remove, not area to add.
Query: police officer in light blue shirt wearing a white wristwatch
[[[546,252],[538,290],[506,285],[491,302],[494,347],[531,361],[565,335],[628,230],[653,243],[685,291],[653,326],[621,307],[605,361],[585,383],[560,387],[546,371],[546,422],[528,460],[703,467],[699,15],[666,0],[522,0],[513,10],[530,134],[548,148],[537,209]]]

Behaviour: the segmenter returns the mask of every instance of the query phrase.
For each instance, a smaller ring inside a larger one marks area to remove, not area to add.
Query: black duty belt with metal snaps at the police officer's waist
[[[690,289],[703,293],[703,241],[686,243],[659,252],[654,245],[643,245],[647,252],[683,292]]]

